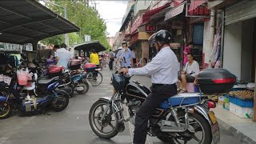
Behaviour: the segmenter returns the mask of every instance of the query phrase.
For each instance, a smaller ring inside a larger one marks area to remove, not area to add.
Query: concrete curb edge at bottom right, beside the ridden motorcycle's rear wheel
[[[234,134],[235,137],[238,137],[243,144],[256,144],[256,142],[253,139],[249,138],[245,134],[242,134],[242,132],[235,129],[233,126],[230,126],[228,123],[223,122],[219,118],[218,124],[222,125],[226,130],[229,130],[232,134]]]

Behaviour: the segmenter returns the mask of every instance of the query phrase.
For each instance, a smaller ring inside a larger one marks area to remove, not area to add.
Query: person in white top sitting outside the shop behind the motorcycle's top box
[[[186,62],[182,74],[178,76],[178,79],[181,80],[181,92],[187,92],[186,82],[194,82],[194,85],[198,84],[198,74],[200,72],[198,62],[193,58],[192,54],[186,54],[188,62]]]

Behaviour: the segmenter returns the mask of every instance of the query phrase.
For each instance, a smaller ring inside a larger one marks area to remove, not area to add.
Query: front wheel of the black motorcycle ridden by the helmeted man
[[[102,114],[109,103],[98,100],[90,108],[89,121],[90,127],[94,134],[100,138],[110,139],[118,134],[118,116],[109,109],[106,112],[105,118],[102,119]]]

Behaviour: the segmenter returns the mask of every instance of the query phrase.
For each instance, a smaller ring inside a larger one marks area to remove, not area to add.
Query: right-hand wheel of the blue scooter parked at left
[[[62,111],[66,109],[66,106],[69,105],[69,94],[66,93],[64,90],[56,91],[58,94],[58,98],[54,98],[53,102],[51,103],[51,108],[54,111]]]

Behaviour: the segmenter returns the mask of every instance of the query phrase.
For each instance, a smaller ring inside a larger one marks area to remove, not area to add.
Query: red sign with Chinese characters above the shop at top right
[[[190,3],[186,4],[186,17],[210,18],[210,10],[205,5],[197,6],[194,10],[189,10]]]

